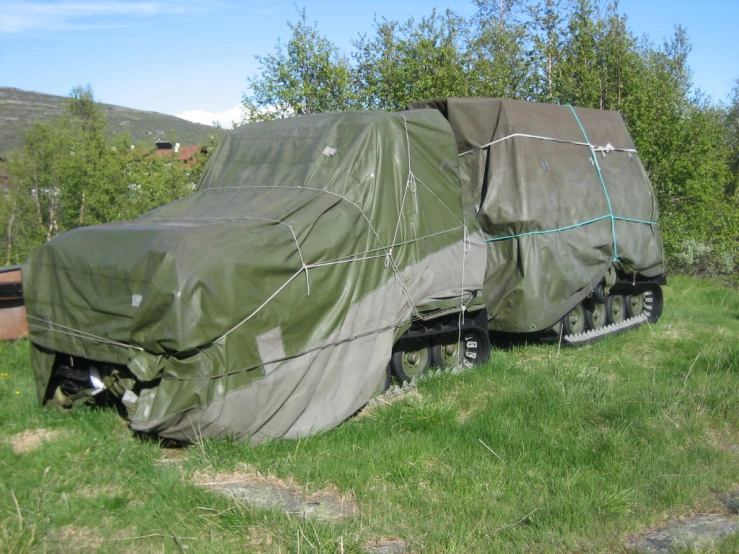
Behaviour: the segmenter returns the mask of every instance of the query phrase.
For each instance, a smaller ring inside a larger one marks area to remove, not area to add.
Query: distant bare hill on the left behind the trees
[[[23,146],[21,131],[35,121],[44,121],[61,115],[69,100],[17,88],[0,87],[0,156]],[[174,129],[177,142],[184,145],[204,143],[213,127],[192,123],[173,115],[100,104],[108,116],[108,131],[128,131],[133,142],[169,140]]]

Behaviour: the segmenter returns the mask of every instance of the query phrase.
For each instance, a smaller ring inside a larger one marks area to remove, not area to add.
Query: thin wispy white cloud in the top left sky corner
[[[0,33],[22,33],[32,30],[78,30],[120,25],[120,17],[151,17],[160,14],[185,13],[186,2],[8,2],[0,12]],[[105,19],[105,21],[101,21]],[[107,18],[107,19],[106,19]],[[91,22],[91,19],[95,19]],[[116,21],[117,20],[117,21]]]

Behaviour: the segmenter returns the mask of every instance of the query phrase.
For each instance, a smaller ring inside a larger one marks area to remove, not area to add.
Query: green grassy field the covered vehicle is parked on
[[[739,291],[710,281],[672,279],[655,326],[498,351],[331,432],[253,449],[175,450],[113,411],[42,409],[28,344],[0,360],[4,551],[349,553],[397,537],[424,553],[622,552],[739,485]],[[195,484],[257,472],[356,514],[306,520]]]

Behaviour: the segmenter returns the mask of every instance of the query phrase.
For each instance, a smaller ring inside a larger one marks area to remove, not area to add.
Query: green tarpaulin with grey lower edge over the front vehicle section
[[[243,125],[193,195],[30,256],[39,396],[71,355],[127,366],[139,431],[330,429],[378,389],[413,318],[481,305],[485,256],[437,111]]]

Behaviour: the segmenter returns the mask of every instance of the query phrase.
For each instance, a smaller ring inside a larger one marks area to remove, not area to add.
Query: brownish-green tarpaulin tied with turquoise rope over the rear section
[[[612,264],[665,272],[652,186],[618,112],[494,98],[414,102],[456,136],[465,205],[488,246],[490,328],[555,324]]]

